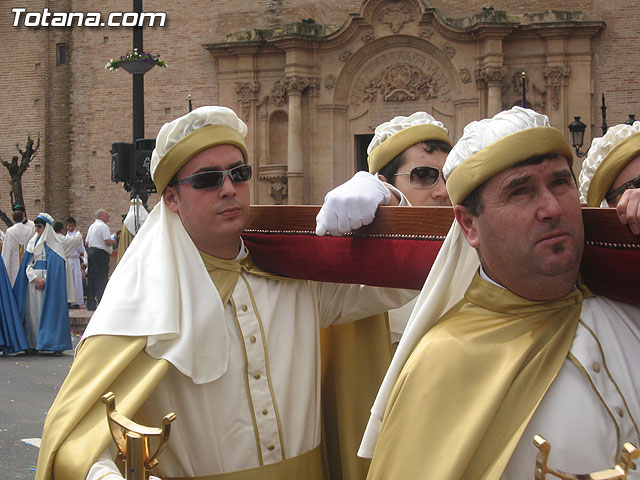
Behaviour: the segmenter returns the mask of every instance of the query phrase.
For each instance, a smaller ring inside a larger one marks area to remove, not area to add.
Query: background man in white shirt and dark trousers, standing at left
[[[89,279],[87,310],[95,310],[109,280],[109,257],[116,244],[111,238],[107,222],[111,216],[105,209],[96,211],[96,219],[87,230],[87,253],[89,256]]]

